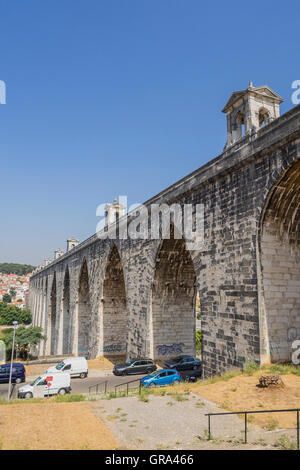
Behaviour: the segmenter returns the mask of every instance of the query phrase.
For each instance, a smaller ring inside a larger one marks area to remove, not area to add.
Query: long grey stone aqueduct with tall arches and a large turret
[[[291,359],[300,339],[300,106],[279,116],[269,87],[232,94],[223,153],[147,201],[204,204],[204,245],[184,239],[74,246],[32,275],[40,354],[195,352],[219,373],[249,360]]]

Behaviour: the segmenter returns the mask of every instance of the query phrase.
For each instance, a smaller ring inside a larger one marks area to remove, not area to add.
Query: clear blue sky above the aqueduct
[[[0,261],[39,264],[221,153],[234,90],[300,79],[299,1],[0,0]]]

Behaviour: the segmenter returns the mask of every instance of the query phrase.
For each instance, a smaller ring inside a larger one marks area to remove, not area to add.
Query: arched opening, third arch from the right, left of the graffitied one
[[[114,245],[107,260],[103,281],[103,354],[126,355],[126,291],[121,258]]]

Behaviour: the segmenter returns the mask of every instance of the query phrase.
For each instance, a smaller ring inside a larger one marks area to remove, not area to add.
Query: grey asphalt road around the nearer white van
[[[144,377],[145,374],[143,375],[126,375],[124,377],[116,377],[114,375],[107,376],[107,377],[87,377],[86,379],[80,379],[77,377],[73,377],[71,379],[71,387],[72,387],[72,392],[71,393],[88,393],[89,392],[89,387],[93,385],[97,385],[100,382],[102,383],[98,387],[98,391],[104,391],[105,384],[104,382],[107,381],[107,391],[114,391],[116,385],[120,385],[118,387],[118,390],[126,390],[127,386],[121,386],[121,384],[125,384],[126,382],[129,381],[136,381],[135,383],[129,384],[129,388],[135,388],[138,387],[138,380]],[[30,383],[30,379],[26,380],[26,383]],[[18,388],[22,387],[24,383],[21,384],[13,384],[12,385],[12,398],[16,398],[18,395]],[[96,387],[93,387],[91,390],[92,393],[96,391]],[[7,397],[8,394],[8,384],[0,384],[0,397]]]

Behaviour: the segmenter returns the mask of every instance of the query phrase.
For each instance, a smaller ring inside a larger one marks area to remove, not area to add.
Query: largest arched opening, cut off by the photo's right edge
[[[272,362],[290,361],[300,339],[300,161],[271,189],[261,219],[261,344]]]

